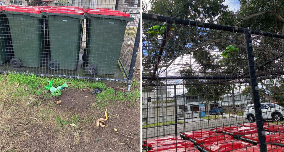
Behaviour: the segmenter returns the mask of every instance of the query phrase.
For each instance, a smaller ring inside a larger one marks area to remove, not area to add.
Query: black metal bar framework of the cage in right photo
[[[239,76],[204,76],[204,77],[155,77],[156,73],[156,66],[159,64],[159,56],[160,54],[157,55],[157,62],[155,64],[155,68],[153,71],[152,76],[143,76],[142,80],[145,80],[149,83],[142,85],[142,87],[147,87],[147,86],[159,86],[156,84],[152,84],[151,82],[153,80],[197,80],[197,79],[216,79],[216,80],[222,80],[216,82],[216,84],[221,84],[222,82],[226,81],[231,81],[234,79],[241,79],[241,78],[250,78],[250,82],[248,81],[243,81],[243,83],[250,83],[251,90],[253,93],[253,101],[254,101],[254,106],[255,109],[255,116],[256,116],[256,125],[257,125],[257,133],[258,133],[258,138],[259,138],[259,147],[261,152],[267,151],[266,147],[266,141],[265,141],[265,131],[263,127],[263,122],[262,122],[262,114],[260,110],[260,100],[259,100],[259,87],[257,86],[257,76],[261,75],[256,75],[256,69],[259,69],[272,61],[275,61],[279,59],[280,57],[284,56],[284,53],[281,53],[280,55],[274,57],[273,59],[263,63],[260,66],[255,66],[254,64],[254,55],[253,55],[253,50],[252,50],[252,41],[251,41],[251,35],[260,35],[260,36],[267,36],[267,37],[273,37],[273,38],[284,38],[284,35],[282,34],[275,34],[275,33],[270,33],[270,32],[264,32],[264,31],[257,31],[257,30],[251,30],[251,29],[246,29],[246,28],[239,28],[239,27],[232,27],[232,26],[224,26],[224,25],[217,25],[217,24],[209,24],[209,23],[203,23],[199,21],[193,21],[193,20],[186,20],[186,19],[179,19],[175,17],[170,17],[170,16],[162,16],[158,14],[146,14],[142,13],[142,19],[143,20],[151,20],[151,21],[157,21],[157,22],[166,22],[168,23],[173,22],[175,24],[182,24],[182,25],[190,25],[190,26],[197,26],[197,27],[203,27],[203,28],[208,28],[208,29],[215,29],[215,30],[220,30],[220,31],[230,31],[234,33],[243,33],[245,34],[245,41],[246,41],[246,51],[247,51],[247,59],[248,59],[248,66],[249,66],[249,72],[239,75]],[[167,29],[167,28],[166,28]],[[164,33],[163,41],[166,39],[165,36],[168,34],[168,31]],[[163,41],[161,42],[161,46],[163,44]],[[165,43],[165,42],[164,42]],[[164,47],[164,46],[163,46]],[[163,49],[163,47],[160,47],[160,49]],[[248,75],[249,76],[246,76]],[[267,75],[266,75],[267,76]],[[270,78],[274,78],[280,76],[280,74],[271,74]],[[267,78],[266,78],[267,79]],[[264,79],[265,80],[265,79]],[[237,82],[240,83],[240,82]],[[212,82],[211,84],[214,84]],[[177,106],[177,99],[176,99],[176,86],[177,85],[185,85],[185,83],[179,83],[179,84],[165,84],[165,86],[174,86],[175,88],[175,135],[178,133],[178,128],[177,128],[177,113],[176,113],[176,106]],[[163,125],[167,126],[167,125]],[[148,127],[150,128],[150,127]],[[148,129],[147,127],[145,129]],[[147,134],[146,134],[147,136]]]

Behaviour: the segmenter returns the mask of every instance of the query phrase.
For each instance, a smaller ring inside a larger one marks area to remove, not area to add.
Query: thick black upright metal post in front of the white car
[[[252,51],[252,41],[251,41],[251,31],[246,30],[246,52],[248,54],[248,64],[249,64],[249,76],[251,83],[251,91],[253,93],[254,101],[254,112],[256,119],[257,135],[259,140],[259,149],[260,152],[267,151],[266,141],[265,141],[265,131],[262,123],[262,113],[259,100],[259,87],[257,86],[256,74],[255,74],[255,65],[254,65],[254,54]]]

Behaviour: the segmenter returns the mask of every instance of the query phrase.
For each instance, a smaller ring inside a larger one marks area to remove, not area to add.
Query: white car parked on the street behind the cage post
[[[284,107],[270,102],[260,103],[260,105],[263,120],[272,119],[274,121],[283,121]],[[249,122],[255,121],[254,104],[246,106],[244,112]]]

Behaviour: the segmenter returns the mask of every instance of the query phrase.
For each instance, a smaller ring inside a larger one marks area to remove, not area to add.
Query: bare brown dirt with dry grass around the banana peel
[[[89,92],[66,89],[58,98],[49,98],[40,106],[29,106],[25,102],[2,106],[1,151],[140,151],[139,101],[136,106],[118,101],[109,104],[107,126],[101,128],[96,126],[96,120],[104,117],[104,111],[92,106],[96,95]],[[61,106],[54,102],[57,100],[62,100]],[[75,115],[78,118],[76,126],[72,127],[69,123]],[[30,122],[19,125],[18,120]],[[115,133],[114,128],[135,139]]]

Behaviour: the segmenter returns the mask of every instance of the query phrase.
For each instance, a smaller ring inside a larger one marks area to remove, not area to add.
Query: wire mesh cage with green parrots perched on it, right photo
[[[142,13],[144,151],[284,151],[284,35]]]

